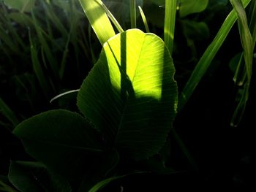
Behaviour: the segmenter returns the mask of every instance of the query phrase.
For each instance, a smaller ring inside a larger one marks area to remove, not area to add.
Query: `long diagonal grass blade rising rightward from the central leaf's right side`
[[[244,7],[246,7],[249,2],[250,0],[244,0]],[[227,15],[226,20],[222,24],[221,28],[219,28],[219,31],[213,42],[211,42],[211,44],[207,47],[205,53],[203,53],[203,56],[198,61],[197,66],[195,66],[194,71],[192,72],[187,84],[181,92],[181,96],[179,97],[178,111],[181,111],[189,100],[190,96],[202,79],[203,75],[206,73],[206,70],[210,66],[211,61],[214,59],[214,56],[222,46],[222,43],[225,41],[227,34],[229,34],[230,29],[233,27],[236,20],[236,12],[233,10],[229,15]]]

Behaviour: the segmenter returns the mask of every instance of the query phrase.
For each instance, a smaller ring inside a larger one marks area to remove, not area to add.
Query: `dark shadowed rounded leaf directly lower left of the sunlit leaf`
[[[94,129],[67,110],[42,112],[24,120],[13,133],[29,155],[69,178],[93,172],[102,153]]]

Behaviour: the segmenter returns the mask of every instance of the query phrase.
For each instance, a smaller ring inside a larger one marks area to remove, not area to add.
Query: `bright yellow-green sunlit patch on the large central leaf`
[[[135,37],[136,41],[134,40]],[[140,95],[146,94],[154,99],[161,99],[162,79],[159,77],[162,77],[163,65],[156,67],[156,64],[162,62],[165,47],[159,47],[157,50],[154,47],[154,43],[145,44],[145,42],[154,42],[157,37],[145,35],[138,30],[132,31],[132,33],[126,33],[125,38],[118,35],[118,37],[111,39],[104,46],[105,54],[108,55],[108,66],[111,69],[111,84],[121,93],[122,74],[120,73],[120,68],[126,62],[127,77],[131,82],[134,82],[133,91],[135,92],[135,96],[140,97]],[[120,46],[120,42],[122,41],[129,43],[126,47]],[[115,50],[114,53],[113,50]],[[143,53],[141,53],[142,50]],[[150,55],[145,54],[146,52],[151,53],[150,50],[154,50],[155,54],[158,54],[159,57],[152,60]],[[126,55],[123,55],[123,53]],[[126,57],[126,61],[124,61],[124,57]],[[151,61],[149,61],[150,59]]]

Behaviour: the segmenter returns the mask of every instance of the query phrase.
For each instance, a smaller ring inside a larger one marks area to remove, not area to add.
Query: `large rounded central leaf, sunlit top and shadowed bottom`
[[[165,43],[131,29],[103,46],[78,92],[78,108],[131,158],[154,155],[176,115],[175,69]]]

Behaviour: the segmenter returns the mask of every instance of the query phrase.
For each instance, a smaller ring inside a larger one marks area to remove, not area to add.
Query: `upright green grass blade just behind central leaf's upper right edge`
[[[176,20],[176,6],[177,0],[166,0],[165,1],[165,45],[167,45],[170,54],[173,52],[173,38],[175,30]]]

